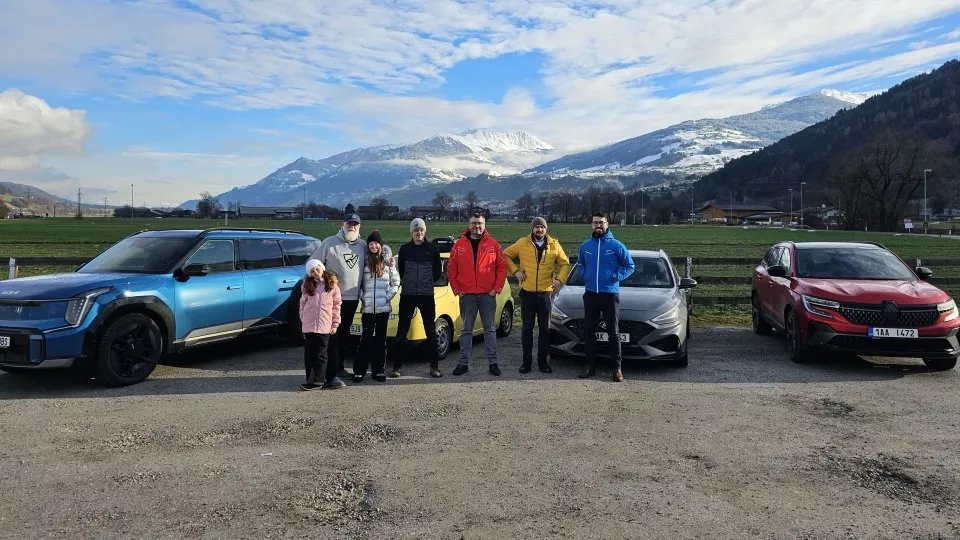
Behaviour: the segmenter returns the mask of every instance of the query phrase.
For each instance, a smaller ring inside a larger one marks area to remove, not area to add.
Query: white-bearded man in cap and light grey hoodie
[[[347,214],[337,234],[324,238],[320,247],[310,257],[319,260],[327,270],[337,274],[337,286],[340,287],[340,296],[343,299],[340,305],[340,320],[343,324],[337,328],[337,333],[330,340],[330,351],[337,352],[336,358],[331,355],[330,361],[335,362],[340,377],[350,375],[346,371],[344,360],[350,342],[350,325],[360,304],[360,286],[363,282],[363,268],[367,263],[366,254],[367,244],[360,239],[360,216]],[[384,246],[383,256],[388,264],[393,263],[393,254],[388,246]]]

